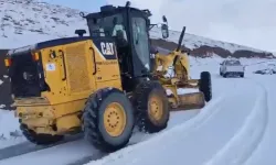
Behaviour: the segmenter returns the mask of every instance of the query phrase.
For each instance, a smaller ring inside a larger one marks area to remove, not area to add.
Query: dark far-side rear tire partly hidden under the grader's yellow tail
[[[21,123],[20,130],[25,139],[38,145],[50,145],[63,140],[63,135],[52,134],[36,134],[33,130],[30,130],[26,124]]]

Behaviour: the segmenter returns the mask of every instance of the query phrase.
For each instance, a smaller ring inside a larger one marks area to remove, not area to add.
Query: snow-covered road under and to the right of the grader
[[[0,165],[276,164],[276,77],[247,73],[245,78],[222,78],[217,64],[208,61],[192,74],[198,78],[202,69],[212,73],[213,100],[200,111],[171,112],[169,128],[161,133],[136,133],[130,146],[109,155],[77,140],[2,160]]]

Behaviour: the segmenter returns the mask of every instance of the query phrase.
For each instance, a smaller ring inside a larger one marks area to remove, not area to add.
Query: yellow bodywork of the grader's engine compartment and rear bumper
[[[36,53],[41,53],[51,91],[42,92],[40,98],[14,99],[15,116],[36,133],[64,134],[79,129],[81,113],[93,92],[105,87],[121,90],[118,61],[106,59],[91,40]]]

